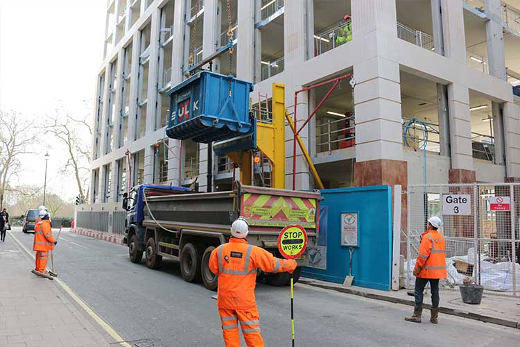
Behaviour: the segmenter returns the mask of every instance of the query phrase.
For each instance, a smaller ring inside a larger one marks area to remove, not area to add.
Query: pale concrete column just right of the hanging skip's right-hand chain
[[[236,60],[236,77],[245,81],[254,81],[254,71],[257,67],[255,59],[255,8],[261,1],[238,1],[238,44],[236,54],[240,59]],[[261,53],[261,52],[260,52]]]

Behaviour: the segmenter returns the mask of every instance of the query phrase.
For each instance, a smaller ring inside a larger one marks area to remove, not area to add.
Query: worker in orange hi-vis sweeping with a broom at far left
[[[36,251],[36,267],[33,273],[46,275],[45,267],[49,251],[52,251],[58,242],[53,238],[49,211],[44,206],[38,208],[38,217],[34,228],[33,251]]]

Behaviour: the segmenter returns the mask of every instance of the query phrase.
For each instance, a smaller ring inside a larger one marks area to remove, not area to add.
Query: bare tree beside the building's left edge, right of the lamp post
[[[67,162],[65,162],[62,174],[72,173],[82,201],[88,195],[90,139],[92,128],[89,126],[89,115],[83,117],[71,117],[69,113],[63,114],[56,110],[53,117],[45,126],[45,133],[54,135],[67,150]]]

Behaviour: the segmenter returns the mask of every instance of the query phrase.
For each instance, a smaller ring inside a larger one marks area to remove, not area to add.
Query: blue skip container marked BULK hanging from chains
[[[193,139],[210,143],[254,131],[249,115],[252,83],[200,71],[169,90],[170,114],[166,135],[173,139]]]

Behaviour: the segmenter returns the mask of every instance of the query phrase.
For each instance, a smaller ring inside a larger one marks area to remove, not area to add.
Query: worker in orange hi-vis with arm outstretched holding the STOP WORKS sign
[[[295,260],[274,257],[263,248],[248,244],[248,223],[242,217],[231,226],[231,239],[211,252],[209,269],[218,276],[217,307],[226,347],[240,347],[239,323],[249,347],[263,347],[260,317],[254,287],[257,269],[266,273],[290,272]]]

